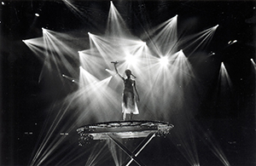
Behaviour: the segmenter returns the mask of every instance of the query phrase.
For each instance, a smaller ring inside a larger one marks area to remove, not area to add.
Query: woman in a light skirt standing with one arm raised
[[[127,78],[122,77],[117,68],[116,65],[118,64],[117,61],[112,62],[115,71],[119,75],[119,77],[122,78],[124,81],[124,91],[123,91],[123,101],[122,101],[122,114],[123,114],[123,120],[126,118],[126,114],[130,114],[130,119],[132,120],[133,114],[139,114],[138,108],[137,108],[137,102],[140,100],[139,95],[137,93],[137,87],[135,80],[131,79],[131,76],[136,78],[132,73],[131,70],[127,69],[125,70],[125,75]],[[137,95],[137,102],[135,101],[134,91]]]

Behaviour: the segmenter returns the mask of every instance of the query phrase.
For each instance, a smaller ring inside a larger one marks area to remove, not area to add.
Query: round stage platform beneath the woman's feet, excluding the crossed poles
[[[88,124],[77,129],[82,140],[108,140],[109,135],[121,139],[147,137],[150,133],[156,136],[169,134],[174,126],[160,121],[113,121]]]

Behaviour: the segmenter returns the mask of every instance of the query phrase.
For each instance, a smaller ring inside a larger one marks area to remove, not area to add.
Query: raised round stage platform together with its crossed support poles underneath
[[[160,121],[114,121],[85,125],[77,129],[79,145],[84,146],[90,140],[112,140],[129,157],[122,164],[129,166],[133,161],[137,165],[145,164],[137,157],[154,136],[165,136],[174,126]],[[144,138],[131,152],[119,139]]]

